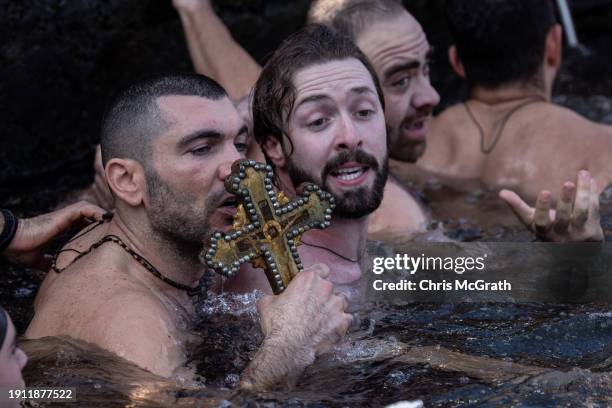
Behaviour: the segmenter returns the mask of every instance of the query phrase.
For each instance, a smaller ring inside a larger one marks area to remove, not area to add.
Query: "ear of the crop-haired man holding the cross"
[[[146,178],[140,163],[131,159],[111,159],[104,172],[108,186],[117,199],[132,207],[143,203]]]

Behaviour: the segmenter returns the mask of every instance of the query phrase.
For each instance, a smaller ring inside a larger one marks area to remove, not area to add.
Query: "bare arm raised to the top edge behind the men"
[[[223,86],[236,103],[247,96],[261,67],[232,38],[210,0],[173,0],[195,70]]]

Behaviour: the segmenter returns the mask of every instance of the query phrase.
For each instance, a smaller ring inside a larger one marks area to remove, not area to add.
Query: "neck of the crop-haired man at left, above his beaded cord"
[[[198,260],[199,248],[180,244],[161,236],[151,228],[144,214],[140,217],[122,217],[117,211],[111,222],[109,233],[117,235],[131,249],[147,259],[162,275],[176,283],[195,287],[204,273],[204,267]],[[157,279],[148,272],[145,273],[148,278],[151,278],[151,283],[162,291],[185,292]]]

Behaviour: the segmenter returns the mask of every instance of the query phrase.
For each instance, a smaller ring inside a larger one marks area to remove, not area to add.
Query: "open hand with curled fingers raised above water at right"
[[[499,196],[514,214],[538,238],[554,242],[603,241],[599,219],[597,184],[586,170],[578,173],[578,182],[565,182],[556,210],[551,209],[551,194],[542,190],[535,208],[516,193],[502,190]]]

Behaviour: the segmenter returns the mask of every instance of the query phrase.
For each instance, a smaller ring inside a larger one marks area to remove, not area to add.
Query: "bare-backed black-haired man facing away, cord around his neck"
[[[477,179],[491,189],[512,189],[526,200],[588,170],[598,195],[612,182],[612,126],[551,102],[562,50],[552,2],[448,0],[446,5],[454,43],[449,60],[466,80],[470,98],[432,122],[418,166]],[[567,190],[539,200],[562,198]],[[517,200],[508,191],[502,197]]]

